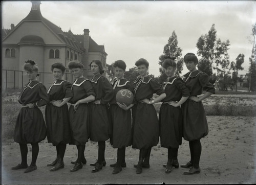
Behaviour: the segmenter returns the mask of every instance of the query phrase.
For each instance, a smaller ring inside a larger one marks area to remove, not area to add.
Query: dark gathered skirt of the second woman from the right
[[[161,147],[179,148],[182,142],[181,108],[163,103],[160,107],[158,120]]]

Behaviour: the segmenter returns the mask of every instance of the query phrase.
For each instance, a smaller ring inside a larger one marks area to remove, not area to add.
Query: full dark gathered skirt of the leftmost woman
[[[23,107],[18,114],[14,141],[20,144],[34,144],[46,138],[46,124],[38,107]]]

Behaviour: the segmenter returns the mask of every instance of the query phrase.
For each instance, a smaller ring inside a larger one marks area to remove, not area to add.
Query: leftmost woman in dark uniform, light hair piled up
[[[19,143],[22,163],[12,167],[12,170],[26,168],[24,172],[28,173],[37,169],[38,143],[46,138],[44,117],[38,107],[46,105],[49,98],[46,87],[37,81],[39,74],[35,62],[32,60],[26,61],[24,70],[28,75],[29,83],[23,88],[18,97],[22,109],[19,111],[14,130],[14,142]],[[29,167],[27,164],[28,143],[32,145],[32,161]]]

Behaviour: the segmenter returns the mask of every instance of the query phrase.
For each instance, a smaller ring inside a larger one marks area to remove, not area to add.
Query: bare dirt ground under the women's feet
[[[11,170],[20,163],[19,145],[9,141],[2,145],[2,184],[199,184],[199,183],[256,183],[256,117],[207,117],[209,134],[202,138],[202,154],[200,160],[201,173],[183,175],[184,168],[174,169],[170,174],[164,172],[163,164],[167,161],[167,149],[160,144],[153,147],[151,168],[143,169],[136,174],[133,167],[138,161],[139,150],[126,148],[127,167],[113,175],[109,165],[115,163],[117,150],[106,142],[106,167],[98,173],[91,173],[97,158],[97,143],[86,145],[87,164],[77,172],[71,173],[71,160],[76,159],[76,147],[68,145],[65,154],[65,168],[50,172],[46,165],[55,159],[55,147],[47,140],[39,144],[37,170],[24,173],[22,170]],[[31,161],[29,145],[28,163]],[[178,160],[185,164],[190,159],[188,142],[183,140],[179,149]]]

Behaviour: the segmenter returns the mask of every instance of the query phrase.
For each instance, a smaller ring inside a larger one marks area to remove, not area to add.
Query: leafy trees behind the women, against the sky
[[[201,35],[196,43],[198,61],[198,70],[206,73],[210,77],[210,83],[214,84],[220,90],[227,90],[236,88],[238,82],[243,82],[243,86],[249,88],[251,91],[256,91],[256,24],[252,25],[252,52],[249,57],[249,78],[239,77],[239,71],[244,70],[242,64],[244,63],[244,54],[238,54],[235,61],[230,61],[228,50],[230,46],[229,40],[221,41],[217,37],[217,30],[215,24],[212,24],[208,33]],[[161,67],[166,57],[176,57],[177,70],[176,75],[180,76],[183,70],[184,60],[182,56],[182,49],[178,47],[178,37],[173,31],[172,35],[168,38],[168,42],[164,45],[163,54],[159,56],[158,64],[160,76],[155,77],[149,75],[151,78],[156,79],[160,84],[164,82],[167,76]],[[113,63],[108,66],[107,74],[111,79],[114,78]],[[124,78],[134,81],[138,76],[137,68],[132,67],[125,72]],[[236,88],[237,89],[237,88]]]

